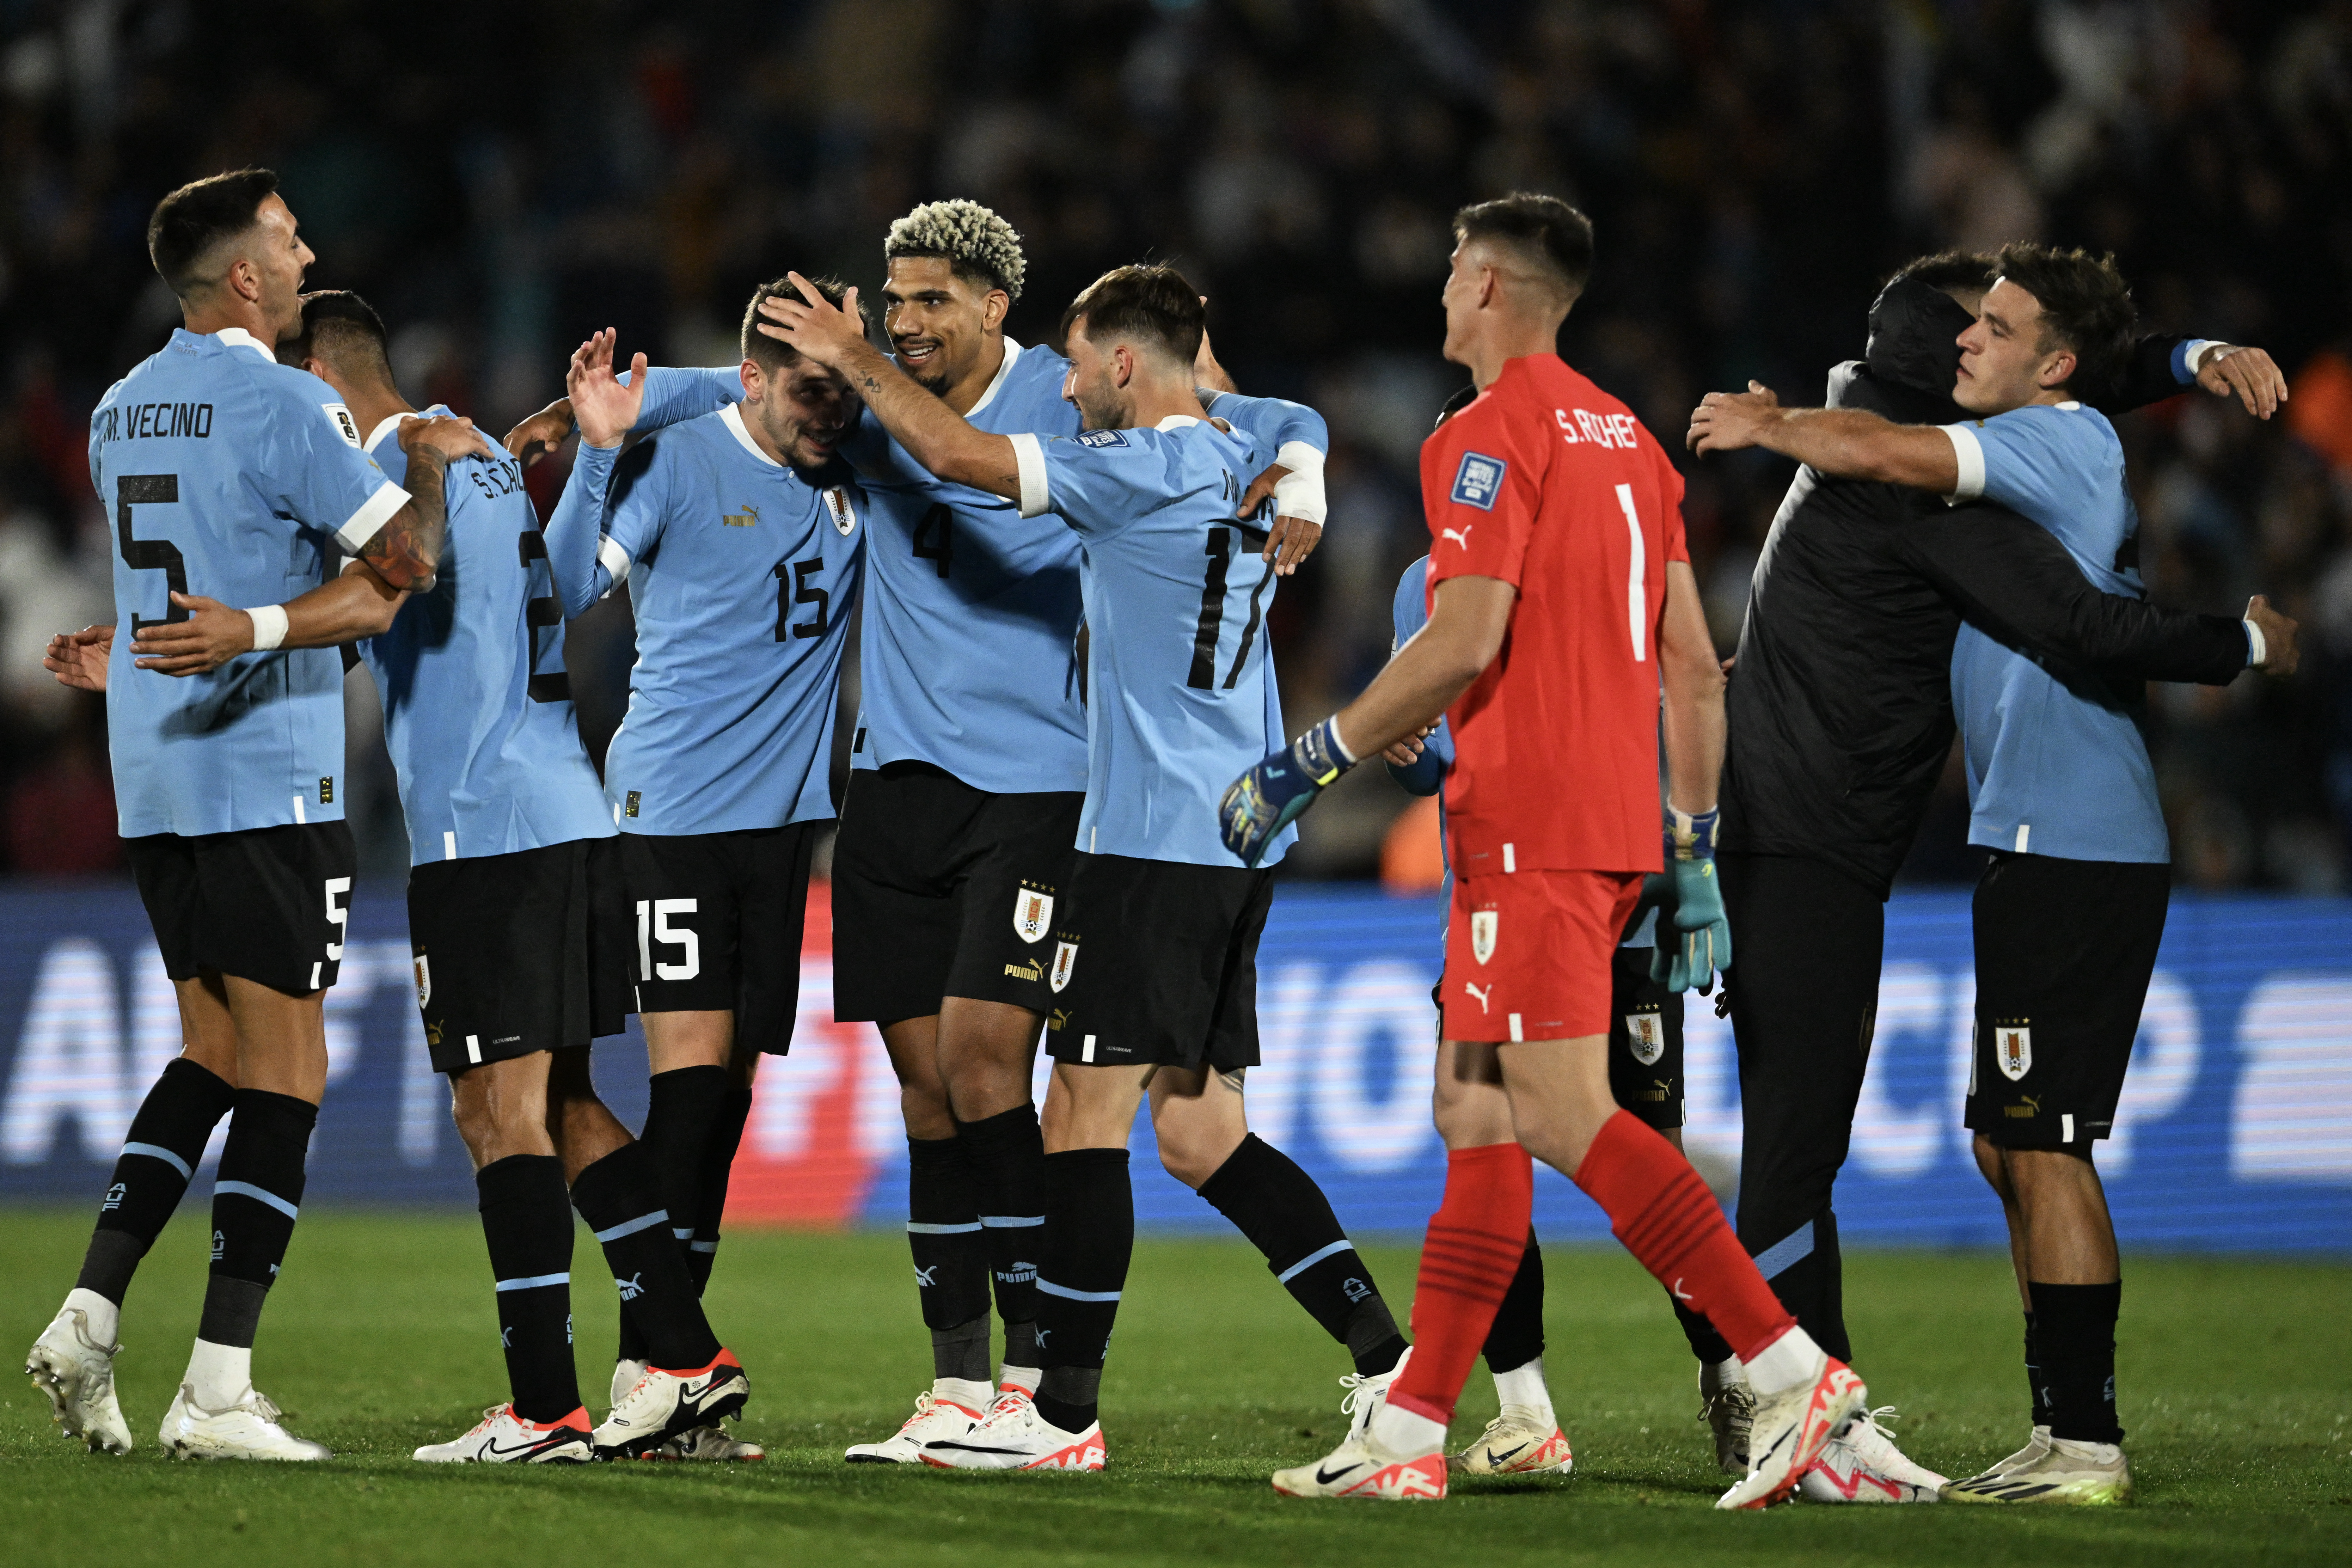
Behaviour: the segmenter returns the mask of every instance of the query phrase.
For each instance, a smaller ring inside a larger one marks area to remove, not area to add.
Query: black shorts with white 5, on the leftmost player
[[[360,856],[348,823],[127,839],[162,971],[212,969],[289,997],[334,985]]]

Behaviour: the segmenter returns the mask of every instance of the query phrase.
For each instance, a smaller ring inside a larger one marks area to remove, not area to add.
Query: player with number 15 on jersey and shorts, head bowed
[[[604,799],[635,905],[654,1074],[644,1143],[696,1288],[717,1253],[753,1074],[793,1044],[809,853],[833,820],[833,708],[866,562],[863,496],[835,463],[858,402],[840,376],[753,331],[757,301],[779,287],[762,284],[743,315],[743,402],[628,451],[644,357],[621,386],[612,334],[581,346],[567,374],[581,449],[546,531],[567,614],[628,583],[637,618]],[[616,1418],[659,1354],[623,1319]],[[713,1422],[680,1448],[760,1458]]]

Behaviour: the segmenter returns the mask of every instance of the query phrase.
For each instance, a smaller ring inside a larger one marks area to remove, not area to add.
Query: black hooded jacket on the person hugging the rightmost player
[[[1830,402],[1898,423],[1966,418],[1950,400],[1966,324],[1943,292],[1891,284],[1870,308],[1867,357],[1830,374]],[[2176,343],[2143,339],[2100,407],[2178,393]],[[2225,686],[2246,665],[2234,618],[2098,592],[2056,536],[2006,508],[1799,468],[1731,672],[1722,846],[1828,860],[1884,898],[1952,748],[1962,618],[2126,708],[2147,679]]]

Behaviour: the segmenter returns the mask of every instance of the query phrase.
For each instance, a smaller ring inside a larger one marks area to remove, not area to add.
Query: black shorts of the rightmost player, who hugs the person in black
[[[2004,1150],[2086,1150],[2157,971],[2169,865],[1992,856],[1976,884],[1969,1128]]]

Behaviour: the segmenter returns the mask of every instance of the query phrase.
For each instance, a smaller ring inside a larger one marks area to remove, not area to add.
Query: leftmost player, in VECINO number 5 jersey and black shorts
[[[327,1084],[322,999],[353,877],[336,795],[343,668],[322,649],[383,630],[433,585],[442,473],[487,444],[456,418],[402,425],[402,489],[360,449],[334,388],[278,364],[270,348],[301,322],[313,254],[268,169],[162,197],[148,256],[183,327],[89,418],[89,480],[115,524],[115,614],[132,637],[89,628],[47,663],[106,691],[122,837],[183,1046],[132,1119],[80,1281],[26,1373],[68,1436],[129,1450],[113,1392],[122,1295],[226,1114],[212,1279],[162,1446],[325,1460],[252,1382]],[[327,583],[336,545],[358,564]]]

